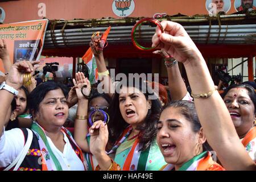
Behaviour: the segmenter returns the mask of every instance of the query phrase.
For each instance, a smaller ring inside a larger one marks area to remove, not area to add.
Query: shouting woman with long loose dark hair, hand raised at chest
[[[150,88],[146,93],[142,93],[142,88],[147,86],[146,82],[118,86],[121,89],[114,94],[109,109],[109,132],[106,126],[102,125],[102,121],[95,122],[89,130],[90,151],[98,161],[97,169],[159,170],[166,164],[155,138],[160,102],[157,99],[148,99],[150,93],[154,94],[148,91]],[[100,134],[97,129],[100,129]],[[105,152],[108,138],[113,146],[108,154],[114,154],[113,159]]]

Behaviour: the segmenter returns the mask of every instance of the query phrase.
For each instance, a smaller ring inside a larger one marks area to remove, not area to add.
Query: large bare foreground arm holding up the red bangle
[[[165,33],[156,28],[152,43],[164,48],[176,60],[184,64],[192,93],[207,98],[195,98],[197,114],[210,146],[217,152],[222,165],[228,170],[256,169],[256,165],[245,151],[228,109],[210,77],[207,64],[199,49],[184,28],[175,22],[163,21]]]

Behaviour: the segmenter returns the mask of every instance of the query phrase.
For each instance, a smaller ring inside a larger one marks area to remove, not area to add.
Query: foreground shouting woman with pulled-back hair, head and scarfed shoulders
[[[195,104],[175,101],[163,107],[156,140],[164,160],[164,171],[222,171],[213,161]]]

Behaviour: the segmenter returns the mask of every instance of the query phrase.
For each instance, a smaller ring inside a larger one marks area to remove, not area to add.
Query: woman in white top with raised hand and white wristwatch
[[[67,90],[55,82],[38,85],[28,96],[31,129],[5,130],[4,116],[24,72],[33,74],[40,61],[15,63],[0,90],[0,168],[19,171],[84,171],[84,158],[71,133],[63,127],[68,117]],[[87,82],[88,84],[88,82]],[[8,85],[8,86],[7,86]],[[2,87],[2,88],[5,88]],[[15,160],[17,158],[17,160]]]

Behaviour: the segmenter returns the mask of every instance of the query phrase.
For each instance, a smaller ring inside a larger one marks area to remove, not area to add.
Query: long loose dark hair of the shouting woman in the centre
[[[129,85],[128,82],[126,84]],[[131,86],[139,89],[141,92],[146,91],[146,93],[142,92],[146,97],[146,100],[148,100],[150,96],[154,95],[154,92],[152,91],[150,86],[147,86],[146,82],[133,82],[133,85]],[[119,82],[117,84],[117,88],[122,88],[122,82]],[[162,106],[158,99],[151,100],[151,109],[148,110],[144,122],[142,122],[142,124],[137,127],[137,130],[141,131],[139,133],[138,139],[142,151],[150,147],[151,142],[156,137],[156,122],[158,121],[161,107]],[[121,111],[119,109],[119,93],[117,92],[117,89],[115,89],[113,100],[110,103],[109,115],[109,141],[111,144],[114,144],[123,133],[123,130],[125,130],[126,127],[129,126],[129,124],[123,119]]]

